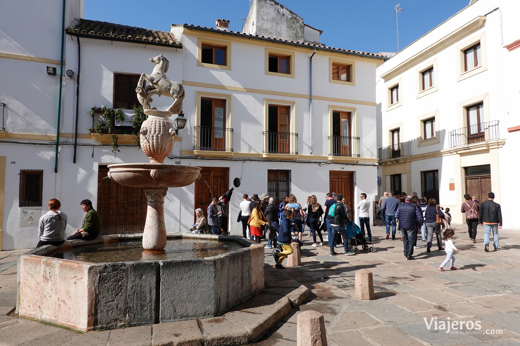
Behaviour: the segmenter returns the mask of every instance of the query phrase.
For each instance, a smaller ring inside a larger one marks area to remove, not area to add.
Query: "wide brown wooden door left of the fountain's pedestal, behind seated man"
[[[99,235],[142,233],[146,221],[146,195],[142,188],[123,186],[107,178],[108,167],[98,168],[97,211],[101,216]]]

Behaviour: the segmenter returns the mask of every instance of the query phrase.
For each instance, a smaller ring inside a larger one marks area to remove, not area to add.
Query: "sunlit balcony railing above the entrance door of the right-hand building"
[[[450,148],[500,139],[498,120],[462,127],[448,133]]]

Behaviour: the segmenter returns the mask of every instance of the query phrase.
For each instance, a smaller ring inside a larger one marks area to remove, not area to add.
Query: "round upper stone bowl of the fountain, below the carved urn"
[[[134,188],[176,188],[190,185],[200,177],[200,167],[159,163],[109,165],[108,176]]]

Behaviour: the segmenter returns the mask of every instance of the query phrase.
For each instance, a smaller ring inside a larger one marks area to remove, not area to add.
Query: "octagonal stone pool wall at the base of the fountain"
[[[264,288],[263,245],[241,236],[168,233],[167,238],[191,239],[202,247],[223,242],[229,251],[168,259],[163,252],[142,250],[139,258],[127,254],[127,261],[119,256],[94,263],[51,256],[93,244],[102,256],[108,243],[136,241],[142,234],[42,246],[18,258],[16,312],[80,331],[114,329],[219,316]]]

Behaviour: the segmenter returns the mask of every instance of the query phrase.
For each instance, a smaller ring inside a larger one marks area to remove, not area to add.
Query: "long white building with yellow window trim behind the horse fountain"
[[[11,4],[10,18],[3,12],[0,24],[3,37],[9,36],[0,41],[0,74],[8,81],[0,86],[2,249],[36,245],[37,219],[50,198],[58,198],[69,216],[68,234],[81,228],[85,198],[100,212],[103,234],[139,233],[146,197],[104,178],[109,164],[148,158],[125,126],[114,126],[120,151],[112,152],[112,134],[89,133],[100,114],[93,119],[88,112],[131,110],[136,78],[151,72],[148,60],[159,54],[170,63],[168,78],[185,88],[188,119],[165,163],[203,167],[204,178],[168,190],[168,232],[186,232],[194,209],[205,210],[234,181],[240,184],[229,204],[232,234],[242,233],[236,220],[243,193],[292,193],[304,204],[312,194],[323,203],[333,190],[350,207],[362,192],[370,200],[378,194],[373,81],[385,57],[324,47],[316,42],[319,31],[308,25],[301,30],[311,37],[307,43],[231,32],[222,20],[217,27],[224,30],[172,25],[171,32],[161,32],[81,19],[83,1],[68,0],[56,160],[61,2],[31,7],[28,18],[46,34],[38,41],[29,38],[32,29],[15,23],[25,5]],[[53,67],[57,75],[48,74]],[[155,97],[153,105],[166,109],[171,101]]]

